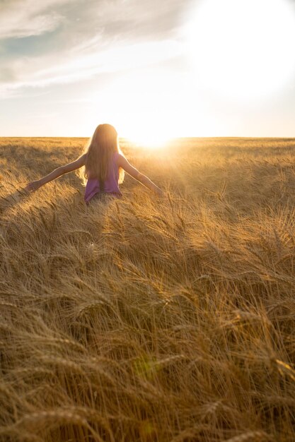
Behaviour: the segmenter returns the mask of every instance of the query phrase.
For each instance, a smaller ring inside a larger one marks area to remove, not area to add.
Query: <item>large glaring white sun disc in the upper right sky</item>
[[[201,0],[186,26],[199,88],[233,99],[271,95],[295,75],[289,0]]]

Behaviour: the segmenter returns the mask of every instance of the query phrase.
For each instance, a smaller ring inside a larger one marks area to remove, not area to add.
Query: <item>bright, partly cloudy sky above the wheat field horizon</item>
[[[293,0],[0,0],[0,136],[295,137]]]

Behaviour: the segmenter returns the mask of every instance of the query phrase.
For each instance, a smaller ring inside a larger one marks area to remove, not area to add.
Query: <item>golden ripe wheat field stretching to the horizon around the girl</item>
[[[122,141],[88,207],[82,138],[1,138],[0,441],[294,442],[295,140]]]

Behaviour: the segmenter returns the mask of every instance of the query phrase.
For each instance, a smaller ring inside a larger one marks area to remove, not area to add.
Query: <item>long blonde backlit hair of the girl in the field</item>
[[[81,171],[83,183],[89,178],[96,178],[103,190],[105,179],[108,178],[110,162],[114,153],[120,150],[118,135],[115,127],[110,124],[99,124],[88,141],[84,153],[86,153],[85,166]],[[119,184],[124,180],[124,170],[119,167]]]

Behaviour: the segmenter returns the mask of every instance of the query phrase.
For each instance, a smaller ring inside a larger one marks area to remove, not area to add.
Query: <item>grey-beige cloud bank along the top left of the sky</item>
[[[0,38],[41,35],[61,23],[69,41],[98,32],[105,37],[155,36],[175,28],[182,9],[182,0],[1,0]]]

